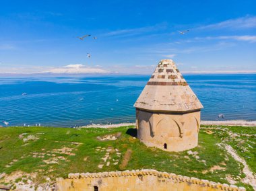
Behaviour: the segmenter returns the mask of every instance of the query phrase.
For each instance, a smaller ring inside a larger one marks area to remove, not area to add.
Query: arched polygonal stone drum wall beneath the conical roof
[[[183,114],[137,109],[136,119],[137,137],[148,147],[166,151],[185,151],[197,147],[199,110]]]

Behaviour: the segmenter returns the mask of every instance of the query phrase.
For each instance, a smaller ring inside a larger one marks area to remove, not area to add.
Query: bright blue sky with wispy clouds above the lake
[[[150,74],[160,59],[184,73],[255,73],[255,7],[254,0],[1,0],[0,73]],[[76,38],[84,34],[97,39]]]

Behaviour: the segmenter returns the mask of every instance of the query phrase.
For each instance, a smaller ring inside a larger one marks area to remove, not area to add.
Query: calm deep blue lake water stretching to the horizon
[[[0,125],[134,122],[133,104],[149,77],[0,77]],[[184,77],[204,106],[201,120],[256,120],[256,75]]]

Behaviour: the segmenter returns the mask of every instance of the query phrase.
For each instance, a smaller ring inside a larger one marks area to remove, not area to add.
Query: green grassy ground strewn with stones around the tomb
[[[242,183],[243,165],[218,143],[231,145],[256,173],[255,132],[256,127],[202,126],[199,146],[189,155],[146,147],[135,139],[134,126],[0,128],[0,184],[33,181],[38,185],[75,172],[156,169],[220,183],[231,181],[251,190]],[[1,178],[3,172],[6,175]]]

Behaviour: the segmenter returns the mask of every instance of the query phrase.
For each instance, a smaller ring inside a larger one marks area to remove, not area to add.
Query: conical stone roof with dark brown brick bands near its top
[[[134,107],[164,112],[188,112],[203,108],[172,60],[158,63]]]

